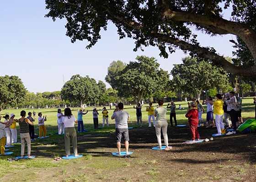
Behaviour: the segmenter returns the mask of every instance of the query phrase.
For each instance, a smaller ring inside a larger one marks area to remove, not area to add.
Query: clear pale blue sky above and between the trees
[[[19,76],[28,91],[58,91],[63,86],[63,76],[68,81],[75,74],[105,81],[112,61],[133,61],[137,55],[156,57],[160,66],[170,72],[173,64],[181,63],[185,56],[177,50],[164,59],[155,47],[133,52],[133,40],[119,40],[112,24],[102,31],[96,46],[86,50],[85,41],[72,44],[65,35],[65,20],[53,22],[44,17],[46,13],[44,0],[0,1],[0,76]],[[212,46],[225,56],[232,56],[232,38],[235,39],[231,35],[211,37],[198,33],[201,45]]]

